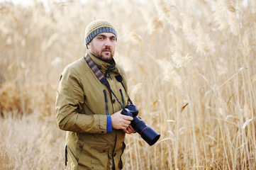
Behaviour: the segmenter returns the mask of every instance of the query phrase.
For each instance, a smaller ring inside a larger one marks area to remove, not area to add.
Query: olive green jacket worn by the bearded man
[[[123,69],[116,64],[116,67],[109,69],[111,64],[90,53],[89,56],[103,74],[107,72],[106,79],[113,93],[126,105],[128,96],[115,77],[120,73],[127,89]],[[96,78],[84,57],[69,64],[62,72],[55,109],[57,125],[61,130],[67,131],[67,169],[123,168],[125,133],[123,130],[114,129],[106,133],[106,114],[120,111],[121,105],[111,91]]]

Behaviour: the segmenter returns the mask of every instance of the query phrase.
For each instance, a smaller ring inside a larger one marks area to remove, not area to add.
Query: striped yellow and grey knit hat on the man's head
[[[99,33],[113,33],[116,35],[117,39],[116,29],[113,27],[112,23],[99,19],[89,23],[87,28],[85,28],[85,45],[91,42]]]

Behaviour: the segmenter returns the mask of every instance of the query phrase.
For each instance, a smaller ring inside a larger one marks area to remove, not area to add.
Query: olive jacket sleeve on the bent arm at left
[[[106,133],[106,115],[81,114],[84,89],[77,72],[67,67],[57,89],[55,111],[57,125],[61,130],[84,133]]]

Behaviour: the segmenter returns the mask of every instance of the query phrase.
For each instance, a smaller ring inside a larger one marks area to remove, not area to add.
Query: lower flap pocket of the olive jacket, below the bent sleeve
[[[81,145],[82,144],[82,145]],[[107,169],[108,144],[80,143],[81,154],[78,157],[77,169]]]

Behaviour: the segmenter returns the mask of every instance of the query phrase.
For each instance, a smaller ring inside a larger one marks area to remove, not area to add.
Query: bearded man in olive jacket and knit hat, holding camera
[[[62,72],[56,117],[67,131],[67,169],[123,168],[125,135],[135,130],[133,118],[121,114],[128,94],[126,75],[113,60],[116,40],[108,21],[90,23],[85,29],[87,54]]]

